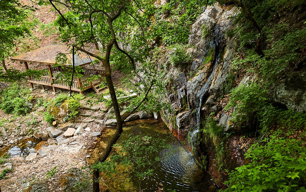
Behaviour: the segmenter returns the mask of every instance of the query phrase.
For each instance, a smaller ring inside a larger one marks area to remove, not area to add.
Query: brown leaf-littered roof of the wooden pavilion
[[[69,53],[69,47],[66,45],[47,45],[24,54],[11,57],[11,60],[54,65],[55,57],[58,53]],[[68,61],[66,66],[69,66],[69,63],[72,65],[72,53],[67,54],[67,57]],[[88,56],[86,53],[79,53],[78,55],[75,55],[74,60],[75,66],[82,66],[91,63],[93,60],[95,60],[95,58]]]

